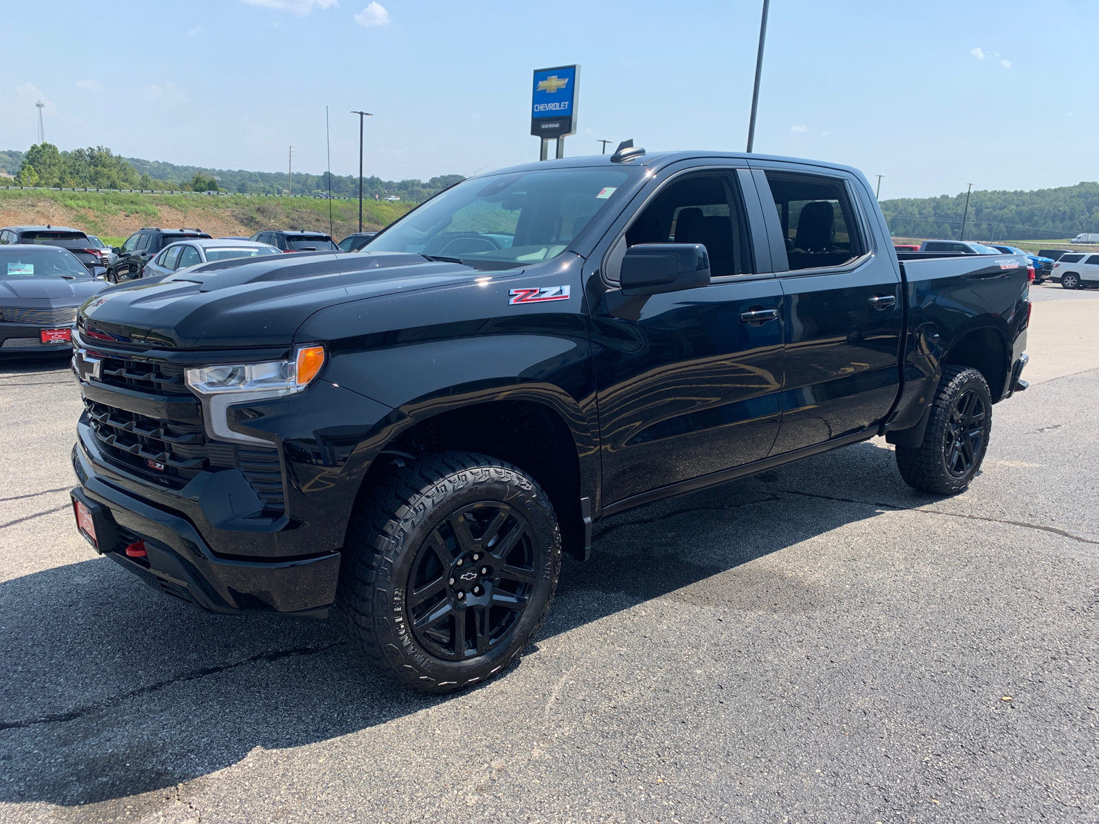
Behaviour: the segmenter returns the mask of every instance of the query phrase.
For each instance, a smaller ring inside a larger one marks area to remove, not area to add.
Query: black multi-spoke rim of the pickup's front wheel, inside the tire
[[[412,633],[436,658],[465,660],[507,641],[530,605],[534,546],[526,517],[478,501],[443,519],[409,572]]]

